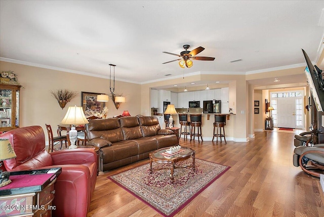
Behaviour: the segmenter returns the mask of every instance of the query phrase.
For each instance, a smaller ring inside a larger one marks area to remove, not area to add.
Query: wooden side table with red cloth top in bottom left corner
[[[57,167],[11,172],[12,183],[0,188],[0,216],[52,216],[54,184],[61,171]]]

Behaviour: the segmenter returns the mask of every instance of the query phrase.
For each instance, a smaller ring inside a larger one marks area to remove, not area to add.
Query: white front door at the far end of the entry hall
[[[278,127],[296,128],[296,99],[278,98],[277,103]]]

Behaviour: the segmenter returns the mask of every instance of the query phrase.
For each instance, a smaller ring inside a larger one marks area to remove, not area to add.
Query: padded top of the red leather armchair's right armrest
[[[84,164],[97,162],[97,153],[93,149],[64,149],[50,153],[53,165]]]

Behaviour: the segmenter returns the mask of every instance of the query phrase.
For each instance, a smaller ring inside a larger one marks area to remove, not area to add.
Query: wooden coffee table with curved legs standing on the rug
[[[192,167],[192,169],[195,170],[195,167],[194,167],[195,151],[190,148],[187,148],[187,147],[181,147],[179,152],[170,156],[166,152],[166,150],[169,148],[158,149],[158,150],[151,152],[149,154],[149,156],[150,156],[150,173],[152,173],[153,170],[171,169],[170,178],[171,178],[171,181],[173,182],[174,169]],[[177,162],[184,161],[189,158],[192,158],[191,165],[186,165],[186,166],[176,166],[175,165]],[[171,167],[155,168],[154,169],[154,168],[152,168],[153,162],[171,164]]]

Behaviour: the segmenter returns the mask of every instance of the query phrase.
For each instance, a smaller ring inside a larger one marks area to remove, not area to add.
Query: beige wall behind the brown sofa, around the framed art
[[[45,131],[45,124],[51,124],[52,129],[56,130],[68,106],[81,106],[82,91],[110,93],[109,79],[1,61],[0,71],[7,70],[14,71],[18,75],[19,83],[24,87],[20,91],[20,127],[39,125]],[[68,102],[62,110],[50,93],[50,90],[57,89],[76,91],[78,96]],[[112,100],[109,100],[108,117],[121,115],[124,110],[128,110],[132,116],[141,114],[141,85],[115,81],[114,93],[123,94],[126,102],[121,103],[116,110]]]

